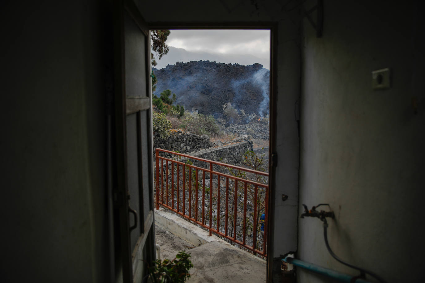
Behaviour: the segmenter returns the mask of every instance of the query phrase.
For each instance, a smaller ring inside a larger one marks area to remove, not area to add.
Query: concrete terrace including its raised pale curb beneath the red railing
[[[191,255],[188,282],[266,282],[265,260],[162,208],[155,211],[155,224],[161,259],[173,259],[182,250]]]

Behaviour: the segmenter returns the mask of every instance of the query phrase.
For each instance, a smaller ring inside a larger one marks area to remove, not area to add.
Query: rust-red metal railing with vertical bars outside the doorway
[[[215,233],[266,257],[268,176],[156,149],[156,209],[167,207],[206,228],[210,235]]]

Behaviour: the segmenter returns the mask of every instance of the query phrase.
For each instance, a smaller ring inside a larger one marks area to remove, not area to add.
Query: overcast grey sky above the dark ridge
[[[156,68],[191,60],[243,65],[260,63],[270,68],[269,30],[171,30],[166,43],[170,51],[161,60],[156,60]]]

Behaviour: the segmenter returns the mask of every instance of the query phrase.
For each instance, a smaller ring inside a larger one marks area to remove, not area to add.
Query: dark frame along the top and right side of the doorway
[[[270,126],[269,126],[269,198],[267,200],[267,280],[272,282],[275,202],[275,172],[277,165],[276,122],[278,82],[278,22],[147,22],[153,29],[263,29],[270,30]]]

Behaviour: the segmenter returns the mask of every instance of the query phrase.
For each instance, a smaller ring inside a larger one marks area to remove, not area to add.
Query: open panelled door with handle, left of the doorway
[[[149,29],[131,0],[114,2],[115,281],[142,282],[155,259]]]

